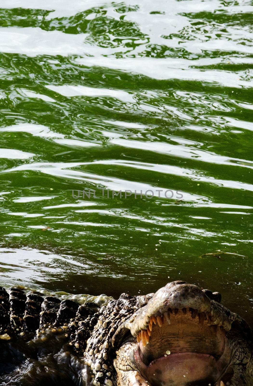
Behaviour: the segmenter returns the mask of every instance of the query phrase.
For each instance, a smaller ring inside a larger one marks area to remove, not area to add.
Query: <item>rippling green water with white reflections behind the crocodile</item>
[[[0,285],[183,279],[252,325],[253,2],[0,6]]]

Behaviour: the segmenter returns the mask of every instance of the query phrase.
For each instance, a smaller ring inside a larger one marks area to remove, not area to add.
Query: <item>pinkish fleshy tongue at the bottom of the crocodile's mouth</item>
[[[201,380],[208,385],[208,380],[213,379],[215,362],[209,354],[170,354],[151,362],[146,368],[146,376],[152,385],[185,386]]]

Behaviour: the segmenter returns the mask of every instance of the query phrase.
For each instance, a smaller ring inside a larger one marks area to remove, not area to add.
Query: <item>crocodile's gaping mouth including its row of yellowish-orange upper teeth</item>
[[[192,307],[162,308],[150,317],[146,314],[146,323],[135,333],[135,360],[142,376],[152,386],[230,384],[224,376],[230,362],[227,321],[211,305],[200,312]]]

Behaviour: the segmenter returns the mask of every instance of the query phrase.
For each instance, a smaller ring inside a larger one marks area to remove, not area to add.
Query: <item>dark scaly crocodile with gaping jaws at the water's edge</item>
[[[3,364],[8,345],[53,336],[78,361],[78,385],[253,385],[251,328],[218,292],[184,281],[145,296],[123,293],[100,308],[0,288],[0,384],[22,384],[20,364]]]

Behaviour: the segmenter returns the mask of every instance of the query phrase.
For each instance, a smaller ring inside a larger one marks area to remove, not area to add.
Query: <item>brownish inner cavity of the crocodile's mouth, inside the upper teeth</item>
[[[149,342],[137,344],[136,366],[152,385],[211,384],[229,362],[225,331],[200,323],[191,314],[171,315],[170,324],[153,325]],[[159,344],[157,344],[159,342]]]

